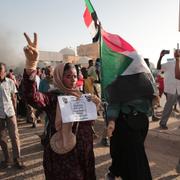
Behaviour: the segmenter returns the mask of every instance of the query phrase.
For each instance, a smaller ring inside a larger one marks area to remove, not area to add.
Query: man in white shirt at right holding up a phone
[[[164,71],[164,92],[166,93],[166,104],[162,113],[160,128],[168,129],[167,121],[176,102],[180,103],[180,80],[175,78],[175,60],[161,64],[162,57],[167,54],[166,50],[161,51],[157,69]]]

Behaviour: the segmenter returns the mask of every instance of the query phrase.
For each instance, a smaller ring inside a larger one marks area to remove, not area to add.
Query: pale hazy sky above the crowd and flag
[[[179,0],[91,0],[103,28],[118,34],[156,63],[162,49],[180,43]],[[1,0],[0,61],[23,63],[23,32],[38,33],[39,49],[60,51],[91,43],[84,0]],[[165,59],[166,59],[165,58]],[[165,61],[164,59],[164,61]]]

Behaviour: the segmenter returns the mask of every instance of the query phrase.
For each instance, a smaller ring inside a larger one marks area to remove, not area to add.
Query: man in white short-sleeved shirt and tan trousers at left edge
[[[19,169],[25,167],[20,157],[15,93],[17,90],[13,80],[6,77],[6,65],[0,62],[0,146],[4,155],[4,161],[1,161],[0,168],[7,168],[11,165],[7,129],[12,143],[14,166]]]

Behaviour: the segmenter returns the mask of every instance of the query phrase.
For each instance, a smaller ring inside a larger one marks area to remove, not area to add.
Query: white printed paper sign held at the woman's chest
[[[83,94],[79,100],[75,96],[58,96],[58,102],[63,123],[97,119],[96,105],[89,94]]]

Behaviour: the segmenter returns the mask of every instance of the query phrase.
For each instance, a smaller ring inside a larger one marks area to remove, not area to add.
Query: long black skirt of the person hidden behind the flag
[[[130,121],[132,118],[132,121]],[[110,140],[110,172],[123,180],[152,180],[144,149],[149,120],[143,113],[129,118],[120,113]]]

